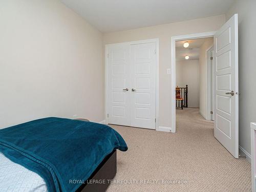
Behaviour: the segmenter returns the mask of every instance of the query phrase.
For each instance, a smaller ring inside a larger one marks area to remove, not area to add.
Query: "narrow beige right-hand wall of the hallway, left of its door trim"
[[[200,114],[206,119],[206,93],[207,93],[207,76],[206,76],[206,51],[214,45],[214,38],[206,38],[200,47]]]

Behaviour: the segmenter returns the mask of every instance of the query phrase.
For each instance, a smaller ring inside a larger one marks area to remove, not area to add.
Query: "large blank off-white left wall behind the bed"
[[[0,128],[103,120],[102,33],[57,0],[2,0],[0,13]]]

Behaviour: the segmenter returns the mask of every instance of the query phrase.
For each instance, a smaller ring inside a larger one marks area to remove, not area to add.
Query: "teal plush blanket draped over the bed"
[[[75,191],[114,149],[127,150],[123,138],[93,122],[49,117],[0,130],[0,152],[39,174],[49,191]]]

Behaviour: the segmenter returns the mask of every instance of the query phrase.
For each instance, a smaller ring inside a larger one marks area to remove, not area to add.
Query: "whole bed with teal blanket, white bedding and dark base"
[[[116,150],[127,150],[123,138],[93,122],[51,117],[2,129],[0,191],[104,191]]]

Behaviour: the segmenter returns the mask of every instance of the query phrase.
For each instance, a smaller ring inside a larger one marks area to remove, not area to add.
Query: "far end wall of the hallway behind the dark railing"
[[[199,60],[176,61],[176,87],[188,86],[188,107],[199,108]]]

